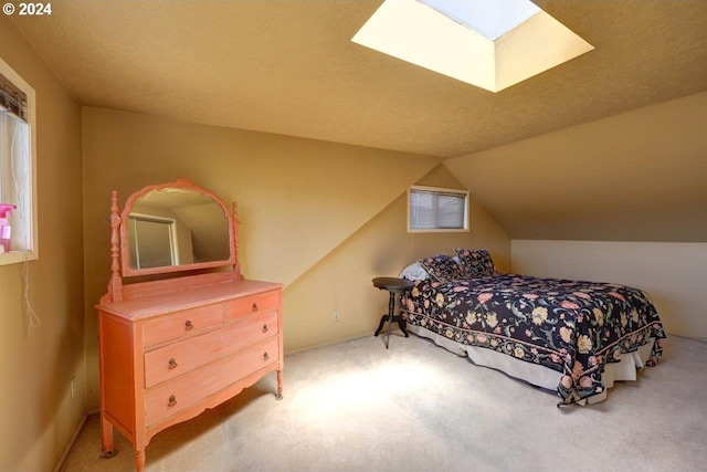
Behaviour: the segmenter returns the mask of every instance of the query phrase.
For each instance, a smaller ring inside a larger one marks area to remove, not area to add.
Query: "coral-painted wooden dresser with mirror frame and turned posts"
[[[115,454],[113,429],[118,429],[134,445],[138,472],[145,469],[145,448],[165,428],[217,407],[274,370],[277,399],[283,388],[282,285],[241,275],[235,209],[224,213],[230,233],[225,262],[231,265],[225,272],[201,273],[220,268],[220,259],[136,269],[135,256],[126,256],[128,241],[137,241],[125,224],[133,203],[165,189],[196,191],[225,209],[215,196],[186,180],[143,189],[120,216],[114,192],[113,275],[97,305],[103,450],[108,458]],[[124,283],[126,273],[169,272],[181,276]]]

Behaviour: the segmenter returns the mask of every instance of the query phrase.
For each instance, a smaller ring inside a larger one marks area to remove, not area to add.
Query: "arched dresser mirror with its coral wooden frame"
[[[120,214],[123,276],[234,264],[233,216],[187,179],[146,187]]]

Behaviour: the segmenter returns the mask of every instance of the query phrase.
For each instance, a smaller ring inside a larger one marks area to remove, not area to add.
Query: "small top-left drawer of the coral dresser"
[[[223,306],[221,304],[169,313],[145,322],[144,343],[145,346],[151,346],[179,337],[193,336],[221,324],[223,324]]]

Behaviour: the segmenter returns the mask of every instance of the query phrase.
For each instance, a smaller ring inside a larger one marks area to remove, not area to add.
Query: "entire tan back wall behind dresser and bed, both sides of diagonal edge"
[[[371,274],[394,274],[418,255],[451,252],[456,241],[481,241],[509,265],[509,240],[476,206],[472,227],[477,232],[472,234],[478,239],[407,234],[401,198],[410,185],[437,168],[428,183],[460,187],[436,157],[91,107],[83,109],[83,148],[92,408],[98,405],[99,388],[93,305],[109,274],[109,231],[104,220],[113,189],[124,202],[144,186],[187,177],[226,202],[236,201],[244,274],[285,284],[286,352],[372,333],[381,315],[376,305],[384,296],[370,290]],[[341,265],[331,268],[330,261],[339,259]],[[365,297],[338,306],[344,319],[336,326],[320,323],[331,318],[334,280],[354,286],[339,296]]]

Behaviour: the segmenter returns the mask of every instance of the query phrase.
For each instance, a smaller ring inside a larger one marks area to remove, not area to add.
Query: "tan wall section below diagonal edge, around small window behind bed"
[[[444,166],[416,182],[461,188]],[[510,240],[498,224],[472,202],[468,233],[408,233],[408,193],[403,191],[331,253],[285,289],[285,345],[289,350],[370,336],[388,312],[388,293],[371,279],[398,276],[420,258],[455,247],[487,248],[499,270],[510,269]],[[340,318],[334,322],[333,312]],[[383,346],[381,345],[381,348]]]

